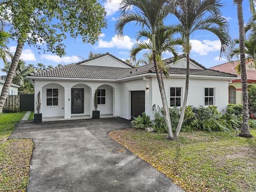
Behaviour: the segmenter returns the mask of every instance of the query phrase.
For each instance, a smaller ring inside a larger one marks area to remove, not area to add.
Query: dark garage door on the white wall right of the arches
[[[138,117],[145,111],[145,91],[131,92],[131,116]]]

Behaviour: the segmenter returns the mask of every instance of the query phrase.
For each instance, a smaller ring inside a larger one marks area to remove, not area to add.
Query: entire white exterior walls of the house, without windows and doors
[[[207,78],[207,77],[206,77]],[[54,83],[52,83],[54,82]],[[170,106],[170,87],[181,87],[182,98],[185,91],[185,77],[165,78],[166,96]],[[59,89],[59,105],[46,106],[46,88]],[[71,88],[84,88],[84,114],[71,114]],[[152,106],[162,107],[162,99],[156,77],[148,77],[122,82],[90,82],[82,80],[36,80],[35,101],[38,91],[42,92],[42,116],[90,115],[94,110],[94,93],[96,89],[106,89],[106,104],[98,105],[100,114],[113,114],[125,119],[131,119],[131,91],[145,91],[145,112],[153,118]],[[148,88],[148,90],[146,89]],[[204,106],[204,88],[215,88],[214,106],[218,111],[228,105],[228,80],[190,78],[187,105]],[[36,106],[35,106],[36,112]]]

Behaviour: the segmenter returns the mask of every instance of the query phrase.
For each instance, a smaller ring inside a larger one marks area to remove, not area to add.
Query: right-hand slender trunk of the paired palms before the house
[[[190,71],[190,66],[189,66],[189,62],[190,62],[190,44],[189,44],[189,36],[186,37],[186,54],[187,54],[187,71],[186,71],[186,84],[185,84],[185,93],[184,93],[184,99],[183,99],[183,104],[182,104],[182,110],[180,113],[180,120],[178,123],[178,126],[176,128],[175,131],[175,136],[178,138],[179,134],[180,134],[180,130],[183,124],[183,120],[185,117],[185,110],[186,110],[186,105],[187,105],[187,100],[188,100],[188,85],[189,85],[189,71]]]

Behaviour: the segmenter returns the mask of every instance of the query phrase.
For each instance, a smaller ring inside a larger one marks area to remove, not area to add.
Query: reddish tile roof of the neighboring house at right
[[[248,63],[248,62],[247,62]],[[246,63],[246,64],[247,64]],[[227,62],[224,64],[220,64],[210,69],[218,70],[226,73],[236,74],[239,78],[241,77],[237,74],[235,67],[239,64],[239,61]],[[246,70],[247,80],[256,80],[256,70]]]

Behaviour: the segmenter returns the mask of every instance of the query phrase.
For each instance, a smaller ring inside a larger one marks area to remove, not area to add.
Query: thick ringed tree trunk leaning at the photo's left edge
[[[24,46],[24,43],[21,43],[20,40],[18,40],[16,52],[15,52],[13,58],[12,58],[12,64],[11,64],[10,69],[8,71],[8,74],[6,76],[6,80],[4,82],[4,86],[3,86],[3,89],[2,89],[2,92],[1,92],[0,111],[2,111],[4,103],[6,101],[8,91],[9,91],[10,85],[12,83],[12,79],[15,75],[15,71],[16,71],[16,68],[18,66],[18,62],[20,60],[20,56],[21,56],[21,53],[22,53],[23,46]]]

